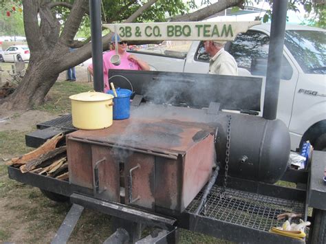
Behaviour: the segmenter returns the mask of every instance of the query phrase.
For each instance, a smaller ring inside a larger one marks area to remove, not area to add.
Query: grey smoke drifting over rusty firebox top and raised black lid
[[[125,162],[133,149],[140,147],[144,150],[177,146],[182,132],[177,121],[207,123],[208,115],[200,109],[208,108],[210,102],[221,102],[224,109],[260,104],[261,78],[169,72],[146,78],[142,80],[142,91],[148,102],[133,109],[129,124],[114,138],[111,153],[119,162]]]

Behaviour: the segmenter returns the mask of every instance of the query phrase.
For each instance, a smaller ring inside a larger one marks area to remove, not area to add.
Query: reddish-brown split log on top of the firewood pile
[[[24,155],[21,155],[20,157],[15,157],[11,159],[10,162],[6,163],[8,166],[12,164],[26,164],[27,162],[37,159],[41,155],[44,155],[45,153],[48,153],[49,151],[54,150],[56,148],[56,144],[58,141],[61,140],[63,137],[63,133],[60,133],[58,135],[55,135],[50,140],[47,140],[42,146],[39,148],[36,148],[34,151],[30,153],[26,153]]]

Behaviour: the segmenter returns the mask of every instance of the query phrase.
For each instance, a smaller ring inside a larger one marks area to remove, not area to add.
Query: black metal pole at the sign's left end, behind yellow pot
[[[102,23],[100,0],[89,1],[91,19],[91,56],[93,61],[94,90],[103,91]]]

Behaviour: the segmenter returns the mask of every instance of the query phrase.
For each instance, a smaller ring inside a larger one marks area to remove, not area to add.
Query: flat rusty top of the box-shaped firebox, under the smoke
[[[155,151],[164,154],[184,155],[189,148],[212,134],[213,129],[201,123],[180,120],[128,119],[114,122],[107,129],[75,131],[67,135],[88,143],[103,146],[123,146],[130,150]]]

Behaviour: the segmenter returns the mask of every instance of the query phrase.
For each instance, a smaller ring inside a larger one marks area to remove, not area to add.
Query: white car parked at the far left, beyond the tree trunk
[[[27,45],[14,45],[0,52],[0,62],[16,62],[30,60],[30,49]]]

